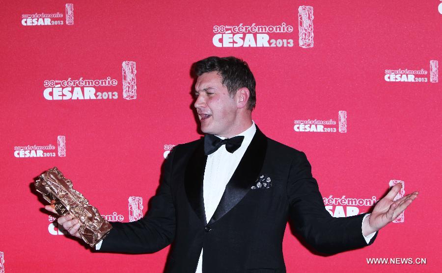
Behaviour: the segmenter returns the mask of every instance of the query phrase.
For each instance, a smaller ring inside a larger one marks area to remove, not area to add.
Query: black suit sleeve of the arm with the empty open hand
[[[361,228],[365,214],[331,217],[325,209],[318,183],[312,177],[310,163],[303,152],[298,152],[293,159],[287,182],[287,197],[289,216],[296,230],[317,251],[334,254],[367,246]]]

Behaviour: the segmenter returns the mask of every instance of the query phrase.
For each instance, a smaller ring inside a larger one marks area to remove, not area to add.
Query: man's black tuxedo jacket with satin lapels
[[[320,252],[367,245],[361,233],[363,215],[331,217],[305,154],[267,138],[258,128],[212,219],[206,219],[203,144],[200,139],[173,149],[146,216],[112,223],[100,251],[151,253],[172,243],[167,273],[195,272],[201,248],[204,273],[285,272],[282,239],[289,218]],[[271,178],[272,186],[251,189],[262,174]]]

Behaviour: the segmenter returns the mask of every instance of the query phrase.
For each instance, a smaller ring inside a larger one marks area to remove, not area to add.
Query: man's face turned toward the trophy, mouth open
[[[227,87],[221,83],[217,72],[200,75],[195,84],[194,106],[201,122],[201,131],[223,137],[236,133],[236,96],[229,97]]]

